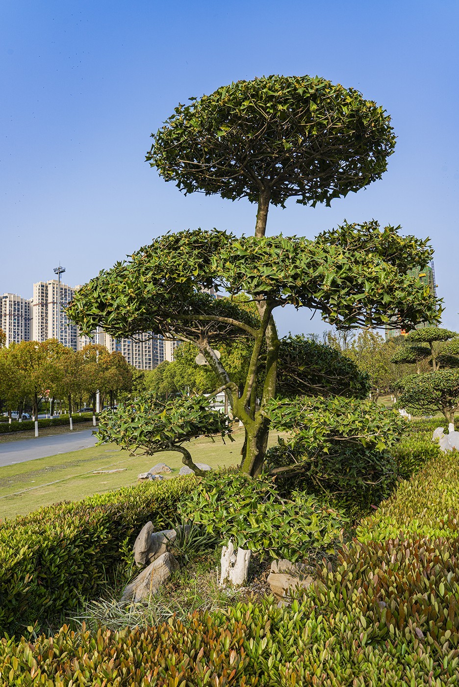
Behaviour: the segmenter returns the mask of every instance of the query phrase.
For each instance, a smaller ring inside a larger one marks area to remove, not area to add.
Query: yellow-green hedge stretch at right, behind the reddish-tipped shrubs
[[[357,527],[360,541],[459,537],[459,453],[439,453]]]

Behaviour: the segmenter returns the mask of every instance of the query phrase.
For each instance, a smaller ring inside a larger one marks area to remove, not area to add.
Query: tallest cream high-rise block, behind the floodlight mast
[[[32,339],[58,339],[64,346],[77,350],[77,327],[71,324],[65,306],[72,300],[75,289],[59,284],[57,279],[34,284],[32,298]]]

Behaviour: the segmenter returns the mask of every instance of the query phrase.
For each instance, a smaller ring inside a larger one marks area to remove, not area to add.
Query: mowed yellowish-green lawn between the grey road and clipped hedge
[[[270,435],[270,445],[277,435]],[[244,431],[234,433],[234,442],[198,438],[187,447],[194,462],[207,463],[211,468],[237,465],[244,442]],[[182,455],[174,451],[151,456],[132,457],[120,451],[115,444],[60,453],[49,458],[38,458],[16,465],[0,467],[0,518],[25,515],[40,506],[60,501],[78,501],[95,493],[112,491],[121,486],[137,484],[137,475],[145,473],[163,462],[178,475],[183,467]],[[99,470],[122,472],[94,474]]]

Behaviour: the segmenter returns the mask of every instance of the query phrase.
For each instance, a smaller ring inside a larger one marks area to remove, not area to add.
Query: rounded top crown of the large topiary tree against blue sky
[[[237,81],[179,105],[147,156],[166,181],[257,203],[316,205],[379,179],[395,146],[390,117],[318,76]]]

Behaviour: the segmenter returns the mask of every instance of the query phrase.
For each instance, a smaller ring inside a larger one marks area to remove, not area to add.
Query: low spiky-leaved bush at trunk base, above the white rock
[[[296,561],[318,549],[333,550],[342,541],[346,518],[314,495],[292,493],[281,499],[274,480],[252,480],[242,473],[203,477],[180,503],[183,519],[207,532],[232,538],[237,546],[261,558]]]

